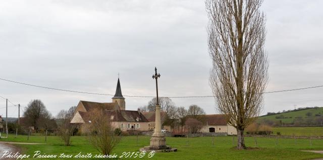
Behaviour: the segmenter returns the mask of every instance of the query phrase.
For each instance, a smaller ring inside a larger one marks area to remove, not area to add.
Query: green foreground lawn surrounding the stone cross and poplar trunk
[[[142,146],[149,144],[148,136],[139,136],[138,143],[135,136],[123,137],[121,142],[115,148],[113,153],[119,156],[123,152],[136,152]],[[236,137],[235,137],[236,140]],[[214,137],[214,145],[212,145],[212,137],[192,137],[187,138],[167,137],[167,144],[178,148],[178,152],[156,153],[152,158],[148,158],[147,154],[143,158],[129,159],[313,159],[323,157],[323,154],[303,152],[300,150],[323,150],[323,139],[312,139],[311,145],[309,139],[294,139],[279,138],[276,145],[276,138],[256,138],[259,148],[249,150],[236,150],[233,145],[232,136]],[[8,139],[2,138],[1,141],[12,142],[37,142],[44,143],[43,136],[31,136],[27,141],[27,136],[20,135],[14,138],[10,135]],[[245,138],[248,147],[256,147],[253,137]],[[235,142],[236,143],[236,142]],[[72,145],[64,146],[63,142],[57,136],[49,136],[47,144],[15,144],[22,148],[25,154],[34,154],[34,151],[39,150],[45,154],[73,154],[79,152],[98,154],[86,141],[85,137],[72,137]],[[45,159],[45,158],[37,158]],[[48,158],[46,158],[48,159]],[[55,158],[50,158],[55,159]],[[95,158],[81,158],[95,159]],[[123,159],[123,158],[119,158]]]

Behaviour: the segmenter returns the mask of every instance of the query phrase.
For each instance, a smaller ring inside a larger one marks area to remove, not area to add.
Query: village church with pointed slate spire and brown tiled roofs
[[[91,110],[101,109],[110,117],[115,128],[122,131],[147,131],[149,130],[149,121],[139,111],[126,110],[125,98],[122,96],[120,79],[118,78],[116,94],[111,103],[99,103],[80,101],[75,109],[74,117],[71,123],[84,124],[89,123],[89,114]]]

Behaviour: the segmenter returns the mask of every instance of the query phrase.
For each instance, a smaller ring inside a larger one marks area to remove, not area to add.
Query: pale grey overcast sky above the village
[[[266,91],[323,85],[323,1],[264,1],[266,51],[270,61]],[[155,96],[151,78],[161,74],[159,95],[210,96],[203,1],[1,1],[0,78],[27,84],[114,94],[118,72],[123,95]],[[40,99],[56,115],[80,100],[111,102],[86,95],[0,81],[0,96],[22,108]],[[323,88],[266,94],[263,112],[323,106]],[[126,97],[136,110],[151,98]],[[196,104],[207,114],[213,98],[173,98],[177,106]],[[0,108],[6,101],[0,99]],[[11,104],[9,104],[11,106]],[[9,107],[9,117],[17,117]],[[5,116],[5,108],[0,109]]]

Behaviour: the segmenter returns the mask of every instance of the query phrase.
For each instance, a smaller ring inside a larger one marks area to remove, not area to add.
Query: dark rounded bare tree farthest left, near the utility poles
[[[40,100],[32,100],[29,102],[28,106],[25,108],[24,117],[26,122],[24,124],[29,126],[33,126],[37,131],[40,127],[38,124],[39,119],[50,117],[50,113],[47,111],[45,105]]]

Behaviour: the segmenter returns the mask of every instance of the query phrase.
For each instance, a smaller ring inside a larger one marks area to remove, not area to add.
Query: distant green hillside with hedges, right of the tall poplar
[[[280,125],[294,124],[294,125],[320,125],[320,121],[323,121],[323,107],[314,107],[301,110],[293,110],[289,112],[277,113],[274,115],[260,116],[257,122],[270,122]],[[322,122],[323,123],[323,122]]]

